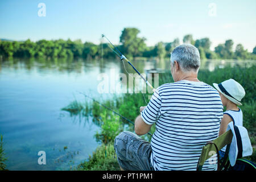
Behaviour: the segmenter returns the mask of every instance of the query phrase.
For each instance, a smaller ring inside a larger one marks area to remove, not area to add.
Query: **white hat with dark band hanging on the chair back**
[[[228,130],[233,133],[229,148],[229,161],[231,166],[234,166],[237,159],[253,154],[253,147],[251,147],[250,138],[245,127],[236,126],[232,121],[228,124]]]

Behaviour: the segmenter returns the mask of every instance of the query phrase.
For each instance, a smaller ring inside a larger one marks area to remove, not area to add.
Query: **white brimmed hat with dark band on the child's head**
[[[236,80],[230,78],[220,84],[214,83],[213,86],[234,104],[242,105],[241,100],[245,96],[245,89]]]

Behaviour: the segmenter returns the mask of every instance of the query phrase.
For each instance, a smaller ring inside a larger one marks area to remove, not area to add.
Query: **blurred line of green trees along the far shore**
[[[124,28],[120,36],[118,49],[126,57],[170,57],[171,51],[181,43],[192,44],[199,49],[201,59],[252,59],[256,60],[256,46],[253,52],[248,52],[242,44],[237,44],[233,51],[234,42],[229,39],[223,44],[218,44],[214,51],[210,50],[210,39],[193,39],[191,34],[185,35],[182,42],[179,38],[173,42],[159,42],[155,46],[147,46],[146,38],[140,38],[138,28]],[[82,43],[75,40],[39,40],[32,42],[27,39],[24,42],[0,41],[0,57],[44,57],[44,58],[76,58],[97,59],[114,58],[116,55],[109,48],[107,43],[94,44],[91,42]]]

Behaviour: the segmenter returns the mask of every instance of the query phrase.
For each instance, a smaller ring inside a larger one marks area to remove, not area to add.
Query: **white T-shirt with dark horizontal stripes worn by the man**
[[[163,84],[156,91],[141,112],[145,123],[156,124],[152,166],[162,171],[196,170],[203,146],[218,137],[223,117],[219,93],[204,82],[187,80]],[[203,170],[215,170],[213,160],[208,159]]]

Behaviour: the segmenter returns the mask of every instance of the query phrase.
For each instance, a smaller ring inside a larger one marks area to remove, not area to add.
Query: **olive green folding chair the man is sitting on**
[[[229,152],[230,143],[232,142],[232,138],[233,138],[233,133],[231,130],[229,130],[229,131],[226,131],[224,134],[220,135],[220,137],[212,140],[211,142],[208,142],[203,147],[203,150],[201,152],[199,162],[197,163],[197,171],[201,171],[205,160],[209,159],[212,156],[212,155],[209,155],[209,154],[212,154],[211,151],[214,151],[217,153],[217,158],[218,158],[217,170],[218,171],[221,170],[226,163],[226,159],[228,158],[228,152]],[[219,155],[218,151],[221,150],[221,148],[223,148],[226,145],[227,145],[227,147],[226,147],[225,156],[220,164],[220,155]]]

